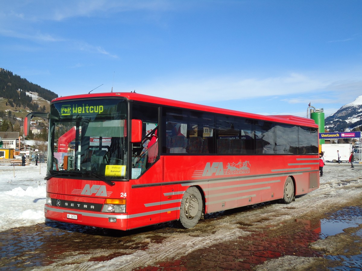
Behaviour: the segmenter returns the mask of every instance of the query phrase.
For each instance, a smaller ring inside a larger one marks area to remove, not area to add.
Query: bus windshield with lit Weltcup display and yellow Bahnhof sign
[[[127,177],[127,102],[89,99],[51,105],[48,176]]]

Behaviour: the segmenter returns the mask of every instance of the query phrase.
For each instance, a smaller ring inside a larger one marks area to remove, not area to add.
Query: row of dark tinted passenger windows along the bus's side
[[[163,152],[170,154],[317,154],[316,128],[163,108]]]

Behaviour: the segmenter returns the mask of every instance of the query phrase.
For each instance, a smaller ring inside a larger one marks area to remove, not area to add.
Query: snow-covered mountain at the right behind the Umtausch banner
[[[362,95],[352,103],[342,106],[325,118],[325,129],[329,132],[349,132],[362,125]]]

